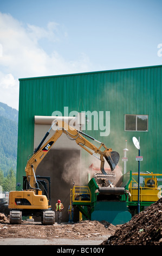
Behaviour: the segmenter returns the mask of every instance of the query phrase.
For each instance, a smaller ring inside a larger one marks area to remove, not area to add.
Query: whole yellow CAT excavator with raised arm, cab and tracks
[[[53,126],[55,127],[54,130],[56,130],[55,133],[44,143]],[[96,154],[99,154],[99,159],[101,160],[100,169],[103,174],[107,174],[104,170],[105,160],[108,162],[111,170],[114,170],[116,164],[118,164],[119,153],[112,151],[111,148],[108,149],[103,143],[82,131],[74,129],[62,120],[54,121],[37,149],[35,149],[33,156],[27,162],[27,166],[25,167],[26,176],[23,179],[23,189],[9,193],[8,208],[10,209],[11,224],[21,224],[22,216],[41,216],[42,224],[55,223],[55,212],[52,211],[50,205],[50,186],[48,187],[47,183],[41,180],[42,176],[36,176],[36,169],[62,133],[65,133],[69,139],[74,140],[90,155],[98,157]],[[83,136],[87,136],[93,139],[93,141],[100,143],[100,147],[97,148]],[[104,148],[103,151],[101,150],[102,147]],[[44,176],[42,178],[48,179],[49,177]],[[49,188],[49,193],[47,192],[47,188]]]

